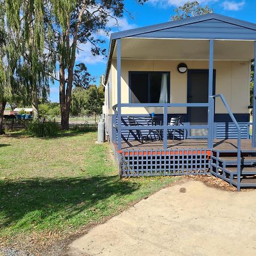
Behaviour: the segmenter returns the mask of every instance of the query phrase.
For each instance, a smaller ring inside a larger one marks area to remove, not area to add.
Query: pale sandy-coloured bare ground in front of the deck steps
[[[95,226],[68,255],[256,255],[256,191],[184,179]]]

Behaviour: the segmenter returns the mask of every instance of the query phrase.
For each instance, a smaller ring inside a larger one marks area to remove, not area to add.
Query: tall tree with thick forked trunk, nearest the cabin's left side
[[[143,4],[147,0],[136,0]],[[77,51],[79,44],[89,43],[93,55],[105,55],[101,48],[104,40],[98,38],[98,31],[109,33],[109,19],[116,19],[125,11],[124,0],[46,0],[48,5],[47,20],[55,35],[56,56],[59,61],[59,94],[61,109],[61,128],[69,128],[69,113],[71,93],[75,77],[81,81],[75,72]],[[84,64],[76,68],[82,69],[86,75]],[[86,80],[86,79],[85,79]]]

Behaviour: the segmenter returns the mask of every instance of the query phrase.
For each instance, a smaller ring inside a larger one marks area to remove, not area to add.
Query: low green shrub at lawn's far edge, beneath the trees
[[[59,125],[53,121],[41,121],[36,119],[28,123],[27,134],[35,137],[55,137],[58,134]]]

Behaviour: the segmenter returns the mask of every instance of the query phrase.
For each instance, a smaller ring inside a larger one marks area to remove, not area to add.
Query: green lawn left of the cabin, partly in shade
[[[39,250],[174,181],[119,180],[109,144],[96,144],[96,137],[89,130],[47,139],[23,132],[0,137],[0,244]]]

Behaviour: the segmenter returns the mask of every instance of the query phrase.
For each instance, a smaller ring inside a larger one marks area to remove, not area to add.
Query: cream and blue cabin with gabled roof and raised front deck
[[[113,33],[105,114],[120,177],[256,187],[255,42],[256,24],[214,13]]]

